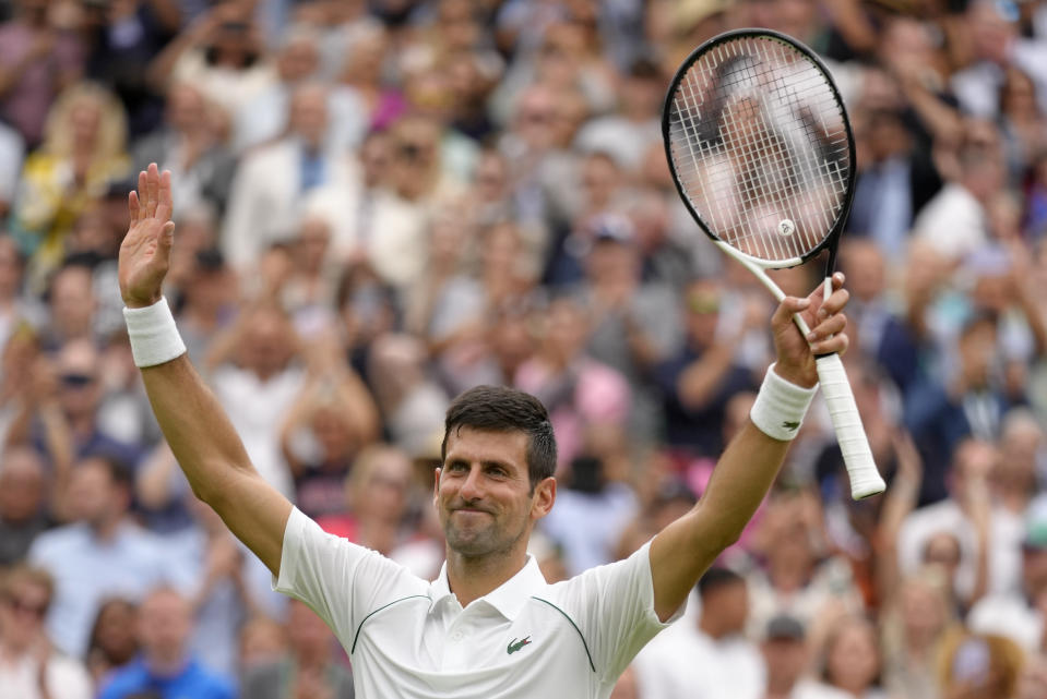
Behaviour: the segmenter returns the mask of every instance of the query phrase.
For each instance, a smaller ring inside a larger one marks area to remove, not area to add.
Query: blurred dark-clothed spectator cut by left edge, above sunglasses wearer
[[[22,561],[48,528],[51,502],[39,454],[9,447],[0,457],[0,569]]]

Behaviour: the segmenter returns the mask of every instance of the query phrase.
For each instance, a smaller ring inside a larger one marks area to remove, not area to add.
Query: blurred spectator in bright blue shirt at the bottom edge
[[[189,653],[192,606],[169,588],[157,588],[139,610],[142,654],[103,683],[98,699],[235,699],[230,678],[213,673]]]

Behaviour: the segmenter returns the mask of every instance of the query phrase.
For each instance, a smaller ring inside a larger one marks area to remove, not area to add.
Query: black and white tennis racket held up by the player
[[[825,250],[829,297],[854,195],[855,145],[840,91],[809,48],[768,29],[705,41],[673,79],[662,135],[680,197],[721,250],[778,301],[785,293],[766,270]],[[804,318],[794,320],[807,336]],[[882,493],[840,355],[819,357],[817,366],[852,497]]]

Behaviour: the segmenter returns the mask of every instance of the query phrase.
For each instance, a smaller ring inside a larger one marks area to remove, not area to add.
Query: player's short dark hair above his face
[[[530,394],[504,386],[477,386],[455,398],[443,423],[441,460],[448,456],[448,436],[461,427],[525,433],[530,437],[527,474],[532,490],[556,472],[556,437],[549,413]]]

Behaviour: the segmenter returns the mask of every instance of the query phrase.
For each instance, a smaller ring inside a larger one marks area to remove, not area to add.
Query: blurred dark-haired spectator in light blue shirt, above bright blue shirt
[[[183,586],[160,541],[128,516],[131,477],[104,457],[88,457],[72,470],[68,489],[71,522],[37,537],[29,561],[55,578],[55,604],[47,617],[55,644],[82,658],[102,601],[112,594],[139,599],[160,583]]]

